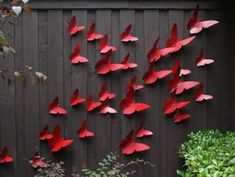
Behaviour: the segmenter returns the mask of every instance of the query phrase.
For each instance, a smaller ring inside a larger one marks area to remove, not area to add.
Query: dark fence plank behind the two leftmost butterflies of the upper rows
[[[75,15],[78,19],[78,23],[80,25],[84,25],[86,30],[83,30],[79,35],[77,35],[72,40],[72,49],[77,45],[80,44],[81,46],[81,56],[87,57],[87,41],[86,41],[86,31],[88,30],[87,24],[87,11],[86,10],[79,10],[73,11],[73,15]],[[90,61],[90,58],[88,58]],[[80,91],[80,96],[85,97],[87,95],[87,64],[78,64],[72,66],[72,91],[76,88]],[[70,94],[71,94],[70,93]],[[76,131],[78,128],[81,127],[81,124],[84,120],[86,120],[87,112],[84,110],[84,107],[78,106],[78,108],[72,109],[72,130],[73,130],[73,137],[76,139],[74,148],[73,148],[73,170],[80,170],[82,167],[86,166],[87,161],[87,142],[86,140],[78,139],[76,135]],[[69,130],[68,130],[69,131]]]

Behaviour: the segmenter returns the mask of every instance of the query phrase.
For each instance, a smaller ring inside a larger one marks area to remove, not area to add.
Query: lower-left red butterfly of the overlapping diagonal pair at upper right
[[[152,48],[148,51],[147,58],[149,59],[149,62],[156,62],[158,61],[161,57],[171,53],[171,51],[174,49],[173,47],[167,47],[160,49],[158,48],[158,42],[159,38],[153,43]]]

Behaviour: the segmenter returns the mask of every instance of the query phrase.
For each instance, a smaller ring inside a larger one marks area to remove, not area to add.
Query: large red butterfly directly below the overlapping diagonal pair
[[[145,84],[153,84],[158,79],[162,79],[168,76],[169,74],[171,74],[171,70],[157,71],[153,68],[153,65],[150,65],[142,79]]]

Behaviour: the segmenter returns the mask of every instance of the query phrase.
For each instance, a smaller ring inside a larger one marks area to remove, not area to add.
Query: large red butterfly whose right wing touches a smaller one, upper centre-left
[[[98,74],[107,74],[110,71],[117,71],[122,69],[124,66],[122,64],[116,64],[112,63],[110,56],[111,56],[112,51],[109,50],[108,53],[106,53],[102,59],[100,59],[96,65],[95,69]]]

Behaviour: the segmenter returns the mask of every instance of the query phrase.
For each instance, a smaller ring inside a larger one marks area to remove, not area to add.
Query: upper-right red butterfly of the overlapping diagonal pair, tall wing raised
[[[179,51],[183,46],[186,46],[189,43],[191,43],[195,38],[196,36],[191,36],[183,40],[179,39],[177,32],[177,25],[175,23],[172,27],[171,36],[166,43],[166,47],[173,47],[174,49],[171,50],[171,53],[174,53]]]

